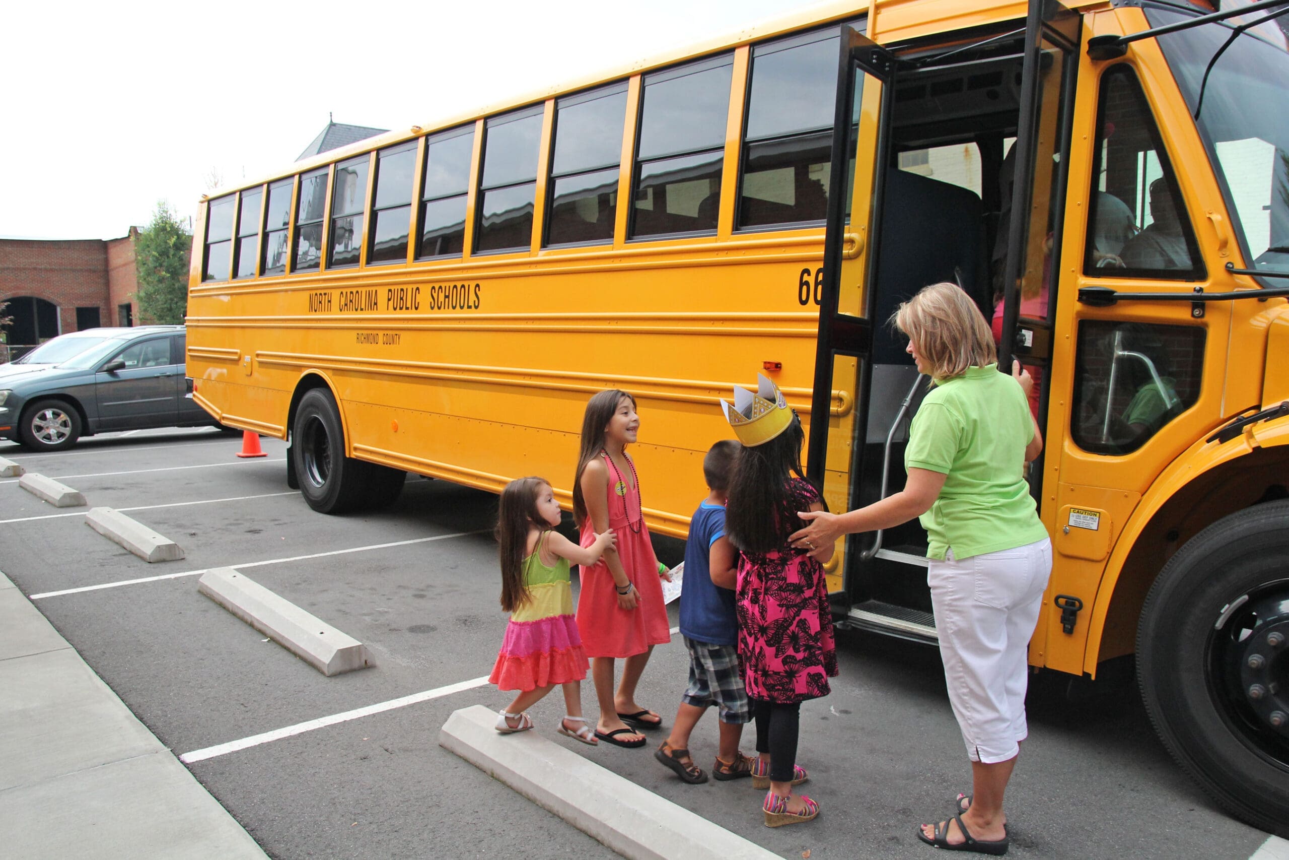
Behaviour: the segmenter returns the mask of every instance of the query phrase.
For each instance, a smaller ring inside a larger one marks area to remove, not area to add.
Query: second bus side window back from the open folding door
[[[733,54],[646,75],[633,237],[715,232],[732,76]]]

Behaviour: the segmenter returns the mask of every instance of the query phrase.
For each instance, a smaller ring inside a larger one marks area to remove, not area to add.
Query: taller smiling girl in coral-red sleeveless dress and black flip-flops
[[[641,508],[639,480],[626,446],[639,431],[635,398],[625,391],[602,391],[586,404],[581,455],[574,481],[572,516],[581,544],[612,529],[616,548],[596,565],[581,567],[577,629],[581,630],[599,700],[596,736],[616,747],[643,747],[634,728],[657,728],[661,717],[635,701],[644,664],[655,645],[672,640],[657,563]],[[614,660],[625,658],[623,681],[614,690]]]

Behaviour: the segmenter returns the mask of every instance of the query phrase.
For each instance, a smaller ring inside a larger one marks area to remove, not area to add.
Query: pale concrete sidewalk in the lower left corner
[[[5,856],[267,856],[3,574],[0,690]]]

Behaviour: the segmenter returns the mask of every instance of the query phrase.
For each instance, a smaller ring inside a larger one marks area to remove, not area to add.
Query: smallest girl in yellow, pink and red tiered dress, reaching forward
[[[518,690],[498,716],[503,734],[532,728],[525,710],[563,686],[567,713],[559,734],[584,744],[598,743],[581,716],[581,679],[586,652],[574,620],[568,562],[593,565],[614,547],[610,529],[579,547],[557,531],[559,503],[545,478],[510,481],[501,491],[496,539],[501,557],[501,609],[510,612],[501,651],[490,682]]]

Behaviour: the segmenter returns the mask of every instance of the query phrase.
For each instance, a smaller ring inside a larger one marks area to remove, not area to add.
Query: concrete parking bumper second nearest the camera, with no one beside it
[[[197,591],[327,677],[369,665],[362,642],[232,567],[208,570]]]

